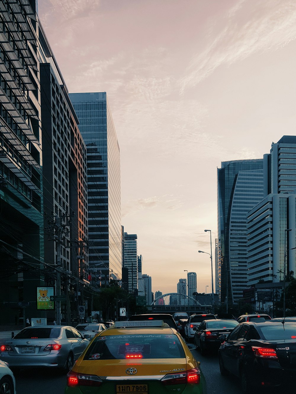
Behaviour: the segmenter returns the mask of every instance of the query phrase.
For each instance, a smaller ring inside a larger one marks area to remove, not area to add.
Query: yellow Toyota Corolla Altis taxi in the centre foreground
[[[206,394],[182,336],[163,321],[115,322],[97,334],[67,374],[65,394]]]

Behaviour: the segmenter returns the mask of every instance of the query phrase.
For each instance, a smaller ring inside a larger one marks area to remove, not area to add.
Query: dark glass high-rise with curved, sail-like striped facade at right
[[[263,160],[222,162],[217,187],[219,299],[233,303],[247,286],[247,212],[263,197]]]

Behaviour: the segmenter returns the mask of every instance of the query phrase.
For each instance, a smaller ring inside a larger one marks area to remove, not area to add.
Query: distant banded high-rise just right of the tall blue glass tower
[[[128,291],[138,289],[137,234],[124,233],[124,267],[128,269]]]

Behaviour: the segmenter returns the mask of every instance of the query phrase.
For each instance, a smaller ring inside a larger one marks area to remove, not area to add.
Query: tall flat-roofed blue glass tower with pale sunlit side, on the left
[[[69,97],[87,152],[89,264],[106,281],[117,280],[122,276],[120,150],[111,109],[105,92]]]

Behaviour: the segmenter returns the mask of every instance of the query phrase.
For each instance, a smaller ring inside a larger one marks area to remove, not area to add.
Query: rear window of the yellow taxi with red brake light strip
[[[84,360],[180,359],[185,353],[179,338],[167,334],[98,336]]]

